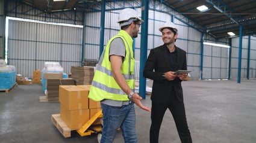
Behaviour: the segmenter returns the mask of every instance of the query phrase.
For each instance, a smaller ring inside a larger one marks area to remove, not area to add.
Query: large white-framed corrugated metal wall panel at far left
[[[45,62],[60,62],[65,73],[81,65],[82,28],[9,20],[8,65],[33,77]]]

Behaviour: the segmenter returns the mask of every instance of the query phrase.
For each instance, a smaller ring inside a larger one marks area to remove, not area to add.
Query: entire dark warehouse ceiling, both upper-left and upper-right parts
[[[107,0],[111,1],[111,0]],[[117,1],[117,0],[112,0]],[[120,0],[118,0],[120,2]],[[158,0],[187,17],[190,26],[207,32],[214,38],[229,38],[227,32],[239,36],[240,27],[243,36],[256,35],[256,1],[255,0]],[[46,13],[88,8],[100,0],[22,0]],[[199,11],[196,7],[205,5],[208,10]],[[179,17],[179,16],[176,16]],[[195,26],[192,22],[197,23]],[[190,24],[191,23],[191,24]]]

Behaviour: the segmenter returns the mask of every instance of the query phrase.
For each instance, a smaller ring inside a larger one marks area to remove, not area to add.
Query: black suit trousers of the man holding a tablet
[[[158,143],[161,123],[167,108],[172,113],[181,142],[192,143],[189,127],[187,125],[184,102],[178,101],[175,95],[172,95],[172,98],[170,98],[168,102],[152,102],[150,143]]]

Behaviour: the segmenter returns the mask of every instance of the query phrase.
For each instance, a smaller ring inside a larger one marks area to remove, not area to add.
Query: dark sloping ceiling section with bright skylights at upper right
[[[228,38],[227,32],[239,35],[240,25],[243,35],[256,35],[255,0],[167,0],[164,4],[198,23],[215,38]],[[208,10],[196,9],[201,5]]]

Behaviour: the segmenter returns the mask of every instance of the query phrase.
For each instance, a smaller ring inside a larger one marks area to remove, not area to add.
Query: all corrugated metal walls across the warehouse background
[[[8,5],[8,9],[13,10],[15,4]],[[104,45],[108,39],[116,35],[120,27],[116,23],[120,8],[136,7],[136,10],[141,14],[140,1],[123,1],[123,2],[107,2],[105,12],[105,28],[104,28]],[[176,24],[178,29],[178,39],[176,45],[187,51],[188,69],[192,78],[200,78],[201,76],[201,43],[202,33],[191,28],[186,24],[186,17],[178,14],[170,7],[160,4],[158,1],[151,1],[149,5],[149,20],[148,20],[148,54],[151,48],[163,44],[161,34],[158,28],[166,21],[171,21]],[[28,11],[22,14],[20,11]],[[44,13],[39,13],[38,10],[31,10],[26,5],[17,7],[16,12],[10,11],[8,16],[23,17],[27,19],[37,19],[48,22],[63,22],[73,23],[67,16],[72,17],[73,13],[57,13],[54,16],[48,16]],[[166,13],[168,11],[168,14]],[[82,13],[77,13],[78,17],[83,17]],[[174,16],[174,17],[172,17]],[[81,18],[83,19],[83,18]],[[180,21],[180,20],[183,21]],[[10,20],[9,38],[8,38],[8,61],[10,65],[17,67],[17,73],[27,77],[32,76],[34,69],[42,69],[43,63],[46,61],[57,61],[61,63],[64,72],[70,72],[70,66],[81,65],[81,55],[84,54],[84,59],[99,59],[99,43],[101,37],[101,12],[90,11],[84,13],[83,20],[75,22],[84,26],[84,44],[82,44],[83,29],[71,28],[67,26],[47,25],[43,23],[19,22]],[[135,59],[140,60],[140,34],[135,38]],[[145,37],[143,37],[145,38]],[[215,42],[216,39],[210,35],[204,35],[204,39]],[[221,39],[226,44],[227,39]],[[232,39],[232,54],[231,54],[231,78],[237,77],[238,67],[238,45],[239,38]],[[255,37],[251,38],[251,45],[255,45]],[[84,53],[82,48],[84,46]],[[247,57],[248,53],[248,38],[243,38],[243,59],[242,59],[242,78],[246,77]],[[255,77],[255,47],[251,46],[251,63],[250,77]],[[214,47],[204,45],[203,59],[203,79],[224,79],[228,78],[228,63],[229,49],[222,47]],[[139,66],[137,66],[139,67]],[[139,70],[136,70],[139,71]],[[139,74],[137,74],[139,75]]]

